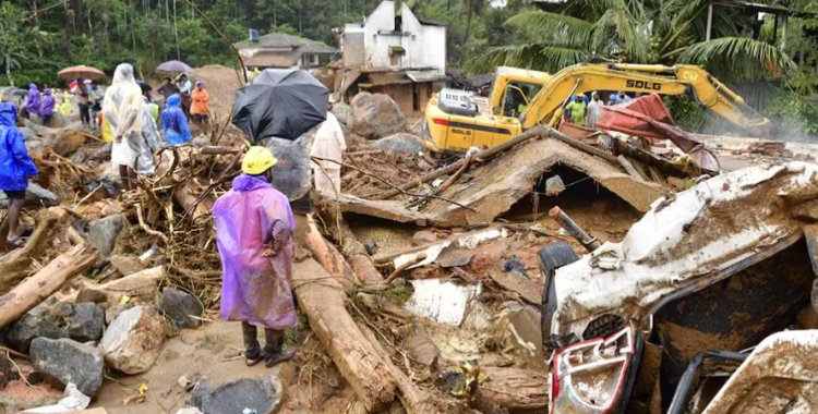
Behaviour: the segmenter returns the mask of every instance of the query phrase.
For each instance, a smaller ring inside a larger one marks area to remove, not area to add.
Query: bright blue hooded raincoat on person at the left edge
[[[16,126],[17,109],[0,102],[0,190],[21,191],[28,186],[27,175],[36,175],[37,167],[25,148],[25,137]]]

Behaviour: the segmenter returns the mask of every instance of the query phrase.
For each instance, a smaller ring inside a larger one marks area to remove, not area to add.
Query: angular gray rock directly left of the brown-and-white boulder
[[[70,339],[36,338],[28,354],[38,372],[63,385],[74,382],[86,395],[95,395],[103,385],[103,352]]]

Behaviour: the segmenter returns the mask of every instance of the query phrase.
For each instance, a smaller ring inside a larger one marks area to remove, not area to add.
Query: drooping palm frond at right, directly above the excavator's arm
[[[706,65],[718,76],[734,81],[778,76],[795,68],[795,62],[778,47],[746,37],[699,41],[685,49],[679,60]]]

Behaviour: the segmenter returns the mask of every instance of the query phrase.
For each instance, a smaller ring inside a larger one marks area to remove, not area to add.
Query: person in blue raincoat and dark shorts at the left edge
[[[0,190],[9,197],[9,233],[5,245],[21,247],[26,231],[20,229],[20,211],[25,203],[28,176],[37,175],[37,167],[25,147],[25,136],[17,129],[17,108],[0,102]]]

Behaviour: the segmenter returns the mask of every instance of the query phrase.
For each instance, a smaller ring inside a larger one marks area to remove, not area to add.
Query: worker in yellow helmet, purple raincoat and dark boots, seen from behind
[[[265,360],[272,367],[296,354],[284,349],[285,330],[298,325],[290,288],[296,223],[287,196],[270,185],[277,161],[269,149],[251,147],[244,173],[213,206],[222,269],[220,317],[241,321],[248,366]],[[257,327],[265,331],[263,350]]]

